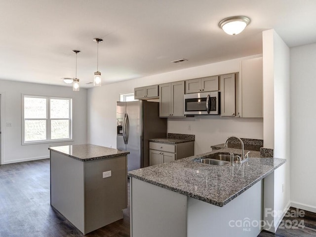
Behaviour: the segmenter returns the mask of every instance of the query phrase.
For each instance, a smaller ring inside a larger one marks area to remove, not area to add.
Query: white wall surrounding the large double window
[[[71,87],[0,80],[1,94],[1,163],[49,158],[48,145],[60,146],[86,143],[87,90]],[[73,142],[22,146],[22,94],[56,96],[73,99]],[[5,126],[12,122],[11,127]]]

